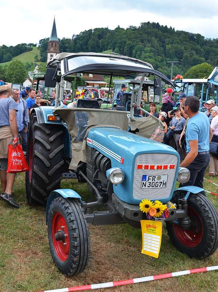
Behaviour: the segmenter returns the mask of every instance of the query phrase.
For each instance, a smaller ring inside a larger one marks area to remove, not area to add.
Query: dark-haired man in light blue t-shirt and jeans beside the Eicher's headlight
[[[187,96],[183,103],[184,112],[189,120],[185,132],[187,143],[187,156],[180,164],[190,171],[187,183],[180,183],[180,187],[194,185],[203,188],[203,177],[210,162],[209,143],[213,133],[208,117],[199,112],[200,101],[196,96]],[[205,192],[201,192],[205,195]]]

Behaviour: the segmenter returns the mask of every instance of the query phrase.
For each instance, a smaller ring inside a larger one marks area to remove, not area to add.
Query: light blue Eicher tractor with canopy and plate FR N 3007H
[[[100,109],[95,100],[78,100],[64,107],[66,76],[91,73],[117,76],[142,74],[131,93],[130,111]],[[61,53],[47,64],[45,86],[56,87],[55,107],[31,112],[26,192],[30,203],[46,203],[46,223],[54,263],[66,275],[81,273],[88,264],[88,224],[128,223],[140,228],[147,219],[139,203],[159,200],[169,208],[166,228],[172,244],[192,258],[203,259],[218,247],[218,214],[195,186],[185,183],[189,171],[180,168],[176,150],[153,140],[163,126],[155,117],[134,117],[140,107],[145,76],[153,75],[154,93],[160,95],[161,79],[173,86],[149,63],[100,53]],[[147,138],[146,138],[147,137]],[[151,139],[148,139],[148,138]],[[74,190],[60,189],[68,171],[86,182],[94,200],[86,203]],[[104,205],[105,211],[96,211]],[[154,218],[153,220],[160,220]]]

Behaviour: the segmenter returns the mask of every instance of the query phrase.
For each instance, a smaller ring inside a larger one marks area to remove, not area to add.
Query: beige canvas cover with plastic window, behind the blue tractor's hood
[[[87,108],[60,108],[54,114],[67,122],[71,136],[71,162],[70,169],[76,169],[79,161],[86,162],[86,136],[93,127],[108,126],[127,131],[127,112],[107,109]]]

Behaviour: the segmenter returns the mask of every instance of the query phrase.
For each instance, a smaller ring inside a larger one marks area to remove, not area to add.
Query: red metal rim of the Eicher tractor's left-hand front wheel
[[[54,234],[57,233],[59,230],[63,230],[66,234],[64,241],[57,241],[54,238]],[[66,221],[63,215],[59,212],[55,213],[52,219],[52,240],[54,244],[54,249],[59,259],[62,261],[67,260],[70,249],[69,234]],[[64,243],[66,243],[66,245],[64,245]]]

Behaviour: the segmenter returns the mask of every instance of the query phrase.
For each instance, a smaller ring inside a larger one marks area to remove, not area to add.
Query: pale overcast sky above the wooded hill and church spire
[[[1,1],[0,46],[38,43],[49,37],[54,15],[61,39],[95,27],[126,28],[147,21],[218,38],[217,9],[216,0]]]

